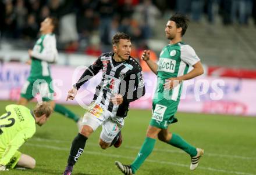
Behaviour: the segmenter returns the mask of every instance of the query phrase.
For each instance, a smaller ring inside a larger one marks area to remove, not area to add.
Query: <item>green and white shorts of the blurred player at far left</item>
[[[40,78],[29,77],[23,85],[20,96],[31,100],[37,93],[40,93],[43,101],[53,100],[54,88],[51,86],[51,82],[51,76],[42,76]]]

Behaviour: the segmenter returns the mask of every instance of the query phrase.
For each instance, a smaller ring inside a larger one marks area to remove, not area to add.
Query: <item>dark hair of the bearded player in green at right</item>
[[[175,13],[170,17],[169,21],[175,21],[177,28],[182,28],[182,36],[186,33],[187,26],[189,25],[189,19],[182,13]]]

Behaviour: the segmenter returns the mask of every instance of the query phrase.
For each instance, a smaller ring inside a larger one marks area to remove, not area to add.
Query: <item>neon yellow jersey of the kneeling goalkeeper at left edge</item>
[[[0,116],[0,165],[6,165],[19,147],[35,133],[35,118],[23,105],[7,105]]]

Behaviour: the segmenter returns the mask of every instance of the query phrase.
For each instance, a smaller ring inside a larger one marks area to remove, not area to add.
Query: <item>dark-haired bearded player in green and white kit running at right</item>
[[[150,60],[150,50],[144,50],[141,57],[151,71],[157,75],[157,89],[152,104],[152,118],[147,130],[147,137],[131,165],[123,165],[116,161],[116,166],[123,174],[135,174],[148,155],[151,154],[156,138],[180,148],[191,156],[190,169],[198,166],[200,156],[204,154],[201,148],[195,148],[178,134],[170,133],[168,125],[177,122],[175,113],[180,101],[182,81],[194,78],[204,73],[202,64],[191,46],[182,42],[182,37],[187,30],[189,20],[183,14],[175,14],[168,20],[165,33],[170,44],[165,46],[160,53],[158,64]],[[188,72],[189,66],[194,69]]]

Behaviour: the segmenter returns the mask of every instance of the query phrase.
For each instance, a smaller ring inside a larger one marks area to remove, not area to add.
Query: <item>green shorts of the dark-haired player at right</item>
[[[177,122],[175,113],[177,112],[179,101],[173,100],[153,100],[151,126],[167,129],[170,123]]]

